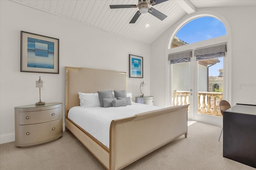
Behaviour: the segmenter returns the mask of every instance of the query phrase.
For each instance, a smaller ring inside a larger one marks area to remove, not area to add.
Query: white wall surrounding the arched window
[[[231,105],[256,104],[256,6],[204,8],[198,9],[197,13],[201,11],[223,16],[231,28],[231,47],[228,47],[231,50],[228,53],[232,54],[229,64],[232,77],[228,86]],[[186,18],[184,16],[178,22]],[[166,106],[169,63],[166,49],[176,27],[177,24],[174,24],[150,45],[150,93],[154,96],[154,104],[158,106]],[[241,89],[237,90],[237,85],[241,84]]]

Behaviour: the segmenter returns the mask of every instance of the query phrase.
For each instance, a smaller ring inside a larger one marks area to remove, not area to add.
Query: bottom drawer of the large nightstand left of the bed
[[[59,120],[19,127],[19,146],[37,145],[62,136],[62,123]]]

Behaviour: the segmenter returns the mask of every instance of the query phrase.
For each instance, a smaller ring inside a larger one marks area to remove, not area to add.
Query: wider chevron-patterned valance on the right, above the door
[[[216,59],[219,57],[225,57],[225,52],[227,52],[227,46],[226,44],[222,44],[202,49],[196,49],[194,51],[194,56],[196,57],[197,61],[206,59]]]

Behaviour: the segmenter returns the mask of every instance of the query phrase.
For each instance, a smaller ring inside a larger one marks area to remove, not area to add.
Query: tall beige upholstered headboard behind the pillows
[[[97,93],[104,90],[127,90],[126,72],[94,68],[66,67],[66,107],[80,106],[78,92]]]

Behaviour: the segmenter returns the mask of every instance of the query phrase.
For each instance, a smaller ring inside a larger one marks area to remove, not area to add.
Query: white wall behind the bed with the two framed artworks
[[[60,74],[20,72],[20,31],[60,39]],[[150,95],[150,46],[49,14],[28,6],[0,1],[0,143],[14,141],[14,107],[39,101],[35,81],[46,84],[44,102],[65,104],[65,66],[129,72],[129,54],[143,57],[144,78],[129,78],[127,91],[140,95],[140,82]],[[64,108],[63,108],[64,114]]]

